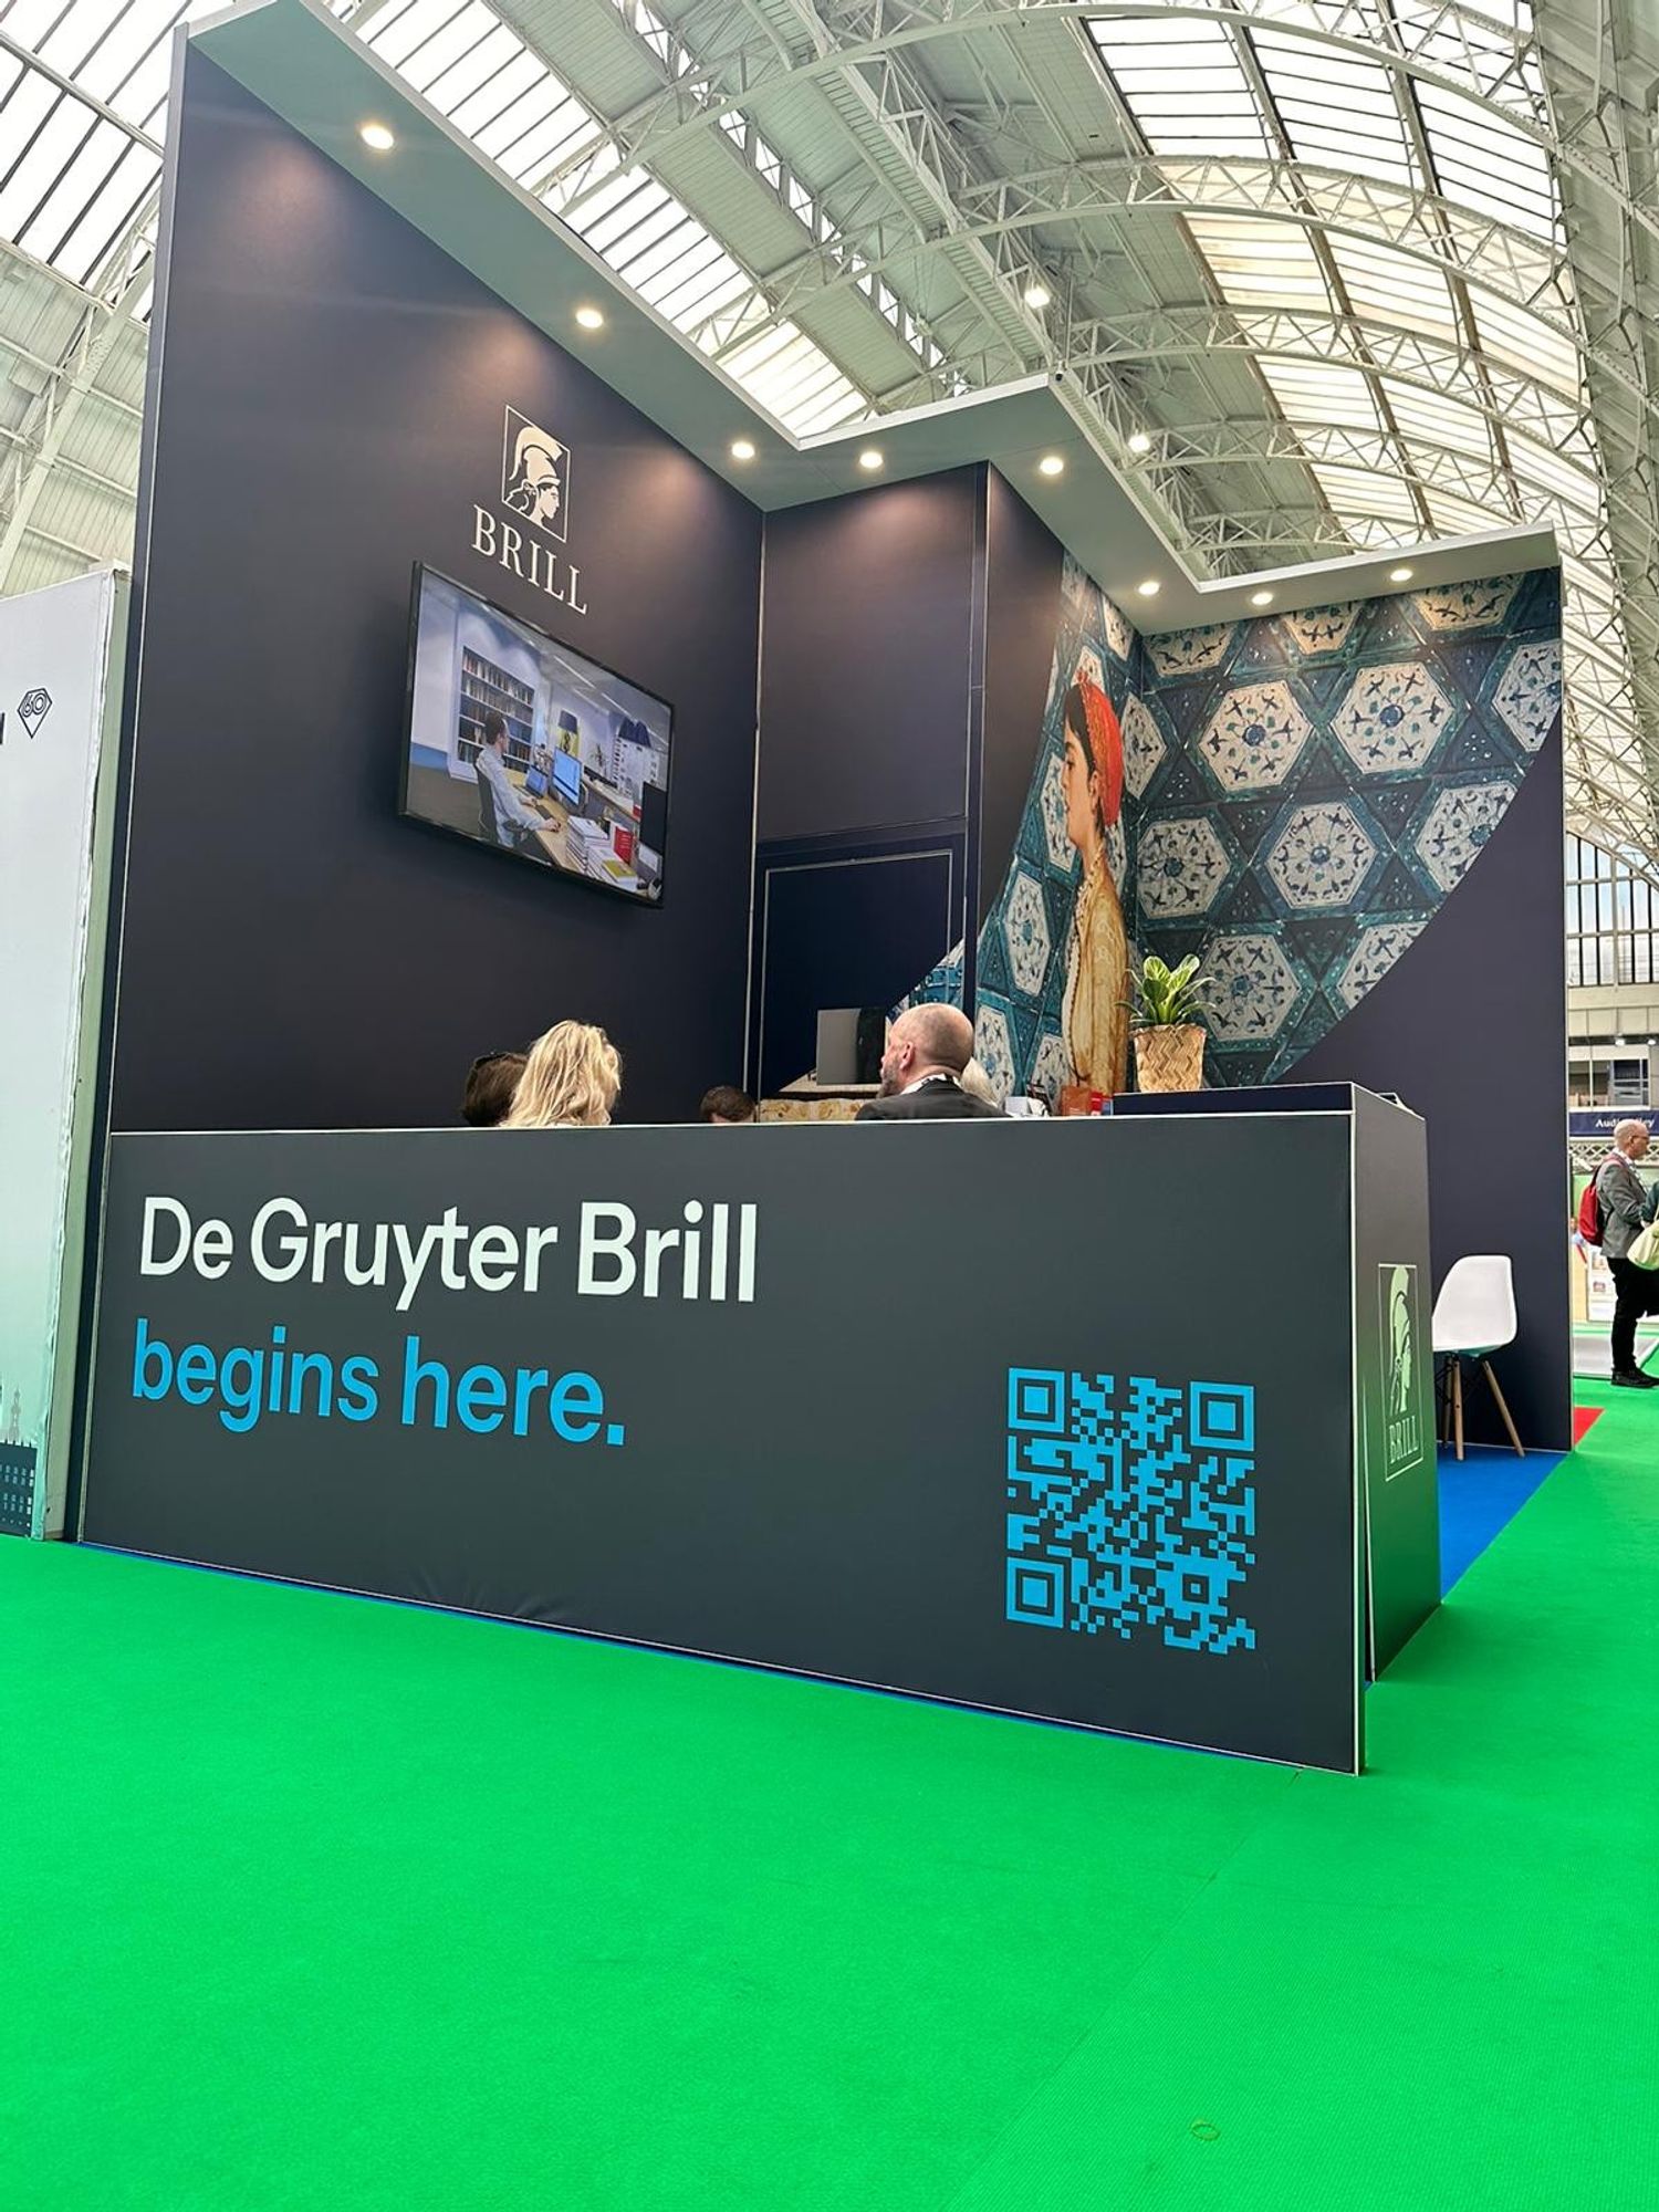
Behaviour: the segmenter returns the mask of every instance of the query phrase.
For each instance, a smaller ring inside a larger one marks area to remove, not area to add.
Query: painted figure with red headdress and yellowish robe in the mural
[[[1113,1097],[1128,1077],[1128,933],[1106,852],[1124,805],[1124,732],[1106,692],[1086,679],[1066,692],[1064,730],[1060,790],[1084,880],[1071,909],[1062,1026],[1073,1082]]]

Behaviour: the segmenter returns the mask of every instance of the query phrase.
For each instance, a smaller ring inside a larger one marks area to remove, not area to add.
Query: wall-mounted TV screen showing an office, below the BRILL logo
[[[416,568],[400,807],[489,852],[657,902],[675,712]]]

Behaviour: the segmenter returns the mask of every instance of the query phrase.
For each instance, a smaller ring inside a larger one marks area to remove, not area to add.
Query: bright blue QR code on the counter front
[[[1009,1619],[1254,1650],[1256,1394],[1009,1369]]]

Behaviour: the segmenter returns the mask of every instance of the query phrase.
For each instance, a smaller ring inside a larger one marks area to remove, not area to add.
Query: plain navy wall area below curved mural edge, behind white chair
[[[1546,739],[1480,863],[1294,1079],[1398,1093],[1429,1124],[1436,1285],[1469,1252],[1515,1263],[1520,1336],[1500,1360],[1528,1444],[1573,1442],[1566,1274],[1562,739]],[[1480,1442],[1504,1433],[1464,1389]]]

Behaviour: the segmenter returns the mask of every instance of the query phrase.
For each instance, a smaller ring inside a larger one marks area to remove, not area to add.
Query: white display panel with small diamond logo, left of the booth
[[[0,599],[0,1533],[64,1511],[126,580]],[[104,801],[108,794],[104,792]]]

